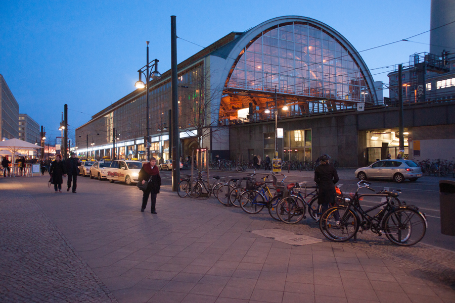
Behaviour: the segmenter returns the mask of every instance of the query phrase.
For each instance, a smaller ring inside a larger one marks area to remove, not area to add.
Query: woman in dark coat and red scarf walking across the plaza
[[[152,214],[156,215],[156,195],[160,193],[161,187],[161,177],[160,171],[156,164],[156,158],[151,157],[149,163],[144,164],[144,166],[139,171],[139,181],[144,184],[147,180],[149,184],[144,190],[144,195],[142,196],[142,207],[141,212],[147,207],[147,200],[150,195],[150,211]]]

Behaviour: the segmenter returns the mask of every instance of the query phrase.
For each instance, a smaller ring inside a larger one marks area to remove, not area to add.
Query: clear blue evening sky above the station
[[[177,36],[203,46],[286,15],[326,23],[357,51],[430,29],[430,0],[1,0],[0,7],[0,74],[20,113],[43,125],[52,143],[60,136],[65,103],[74,139],[76,127],[134,90],[137,70],[146,64],[145,41],[150,41],[150,60],[160,60],[159,71],[170,69],[171,15],[177,17]],[[407,65],[410,55],[429,52],[429,33],[411,41],[360,55],[370,69]],[[177,39],[178,63],[200,50]],[[392,70],[372,74],[375,81],[388,83]]]

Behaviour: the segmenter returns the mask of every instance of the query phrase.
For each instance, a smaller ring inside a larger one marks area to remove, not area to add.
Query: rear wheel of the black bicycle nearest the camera
[[[397,245],[411,246],[422,240],[427,230],[427,221],[419,212],[411,208],[396,209],[383,221],[384,233]]]

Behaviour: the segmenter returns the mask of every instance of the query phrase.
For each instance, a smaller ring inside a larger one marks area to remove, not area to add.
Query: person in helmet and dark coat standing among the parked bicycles
[[[338,173],[333,165],[329,165],[330,156],[327,154],[319,157],[320,165],[314,170],[314,182],[319,185],[317,203],[322,204],[324,213],[329,205],[336,201],[335,184],[338,182]]]

